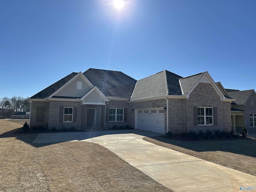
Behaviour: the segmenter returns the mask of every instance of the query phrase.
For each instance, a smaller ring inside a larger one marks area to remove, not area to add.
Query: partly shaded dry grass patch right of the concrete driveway
[[[256,140],[181,141],[162,136],[148,142],[256,176]]]

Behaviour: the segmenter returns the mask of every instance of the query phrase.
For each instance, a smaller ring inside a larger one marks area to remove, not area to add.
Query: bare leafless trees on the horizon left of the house
[[[30,102],[27,98],[20,96],[3,97],[0,100],[1,118],[11,118],[16,112],[30,111]]]

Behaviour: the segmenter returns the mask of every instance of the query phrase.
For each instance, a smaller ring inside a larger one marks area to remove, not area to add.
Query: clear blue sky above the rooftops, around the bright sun
[[[139,80],[208,71],[256,90],[256,0],[1,0],[0,98],[33,96],[71,72]]]

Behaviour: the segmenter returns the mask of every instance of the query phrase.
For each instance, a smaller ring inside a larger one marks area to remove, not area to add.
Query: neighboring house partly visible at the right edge
[[[245,126],[247,132],[256,132],[256,92],[255,90],[226,89],[228,96],[235,99],[231,103],[232,129],[240,133]]]

